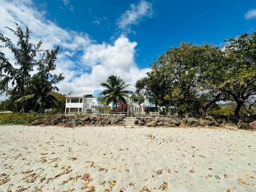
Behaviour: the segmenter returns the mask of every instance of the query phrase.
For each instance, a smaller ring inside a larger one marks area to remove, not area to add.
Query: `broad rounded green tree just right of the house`
[[[147,89],[162,105],[175,105],[183,111],[206,115],[207,108],[224,99],[216,86],[222,82],[222,76],[215,74],[222,61],[223,53],[218,47],[181,43],[151,65]]]

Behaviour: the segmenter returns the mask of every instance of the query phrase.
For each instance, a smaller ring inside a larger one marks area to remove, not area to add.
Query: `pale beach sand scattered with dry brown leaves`
[[[0,191],[256,191],[255,135],[0,126]]]

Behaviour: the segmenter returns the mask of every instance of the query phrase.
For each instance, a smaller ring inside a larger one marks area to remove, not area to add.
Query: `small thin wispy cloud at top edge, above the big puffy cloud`
[[[130,29],[131,25],[138,25],[139,21],[145,17],[152,17],[153,9],[152,4],[141,0],[138,5],[131,4],[130,10],[126,10],[121,15],[121,18],[117,20],[117,26],[119,29]]]

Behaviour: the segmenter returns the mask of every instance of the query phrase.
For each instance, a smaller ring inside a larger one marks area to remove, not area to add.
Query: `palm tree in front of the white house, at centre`
[[[114,75],[109,76],[106,83],[101,83],[100,85],[107,88],[101,92],[104,95],[104,98],[100,101],[101,104],[108,105],[113,102],[117,107],[118,102],[126,103],[125,98],[128,98],[128,94],[132,93],[132,91],[125,90],[130,84],[125,85],[123,79]]]

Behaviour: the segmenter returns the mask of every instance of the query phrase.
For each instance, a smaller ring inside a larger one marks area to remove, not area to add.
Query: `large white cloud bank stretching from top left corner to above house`
[[[63,73],[66,77],[57,85],[61,93],[102,89],[99,84],[105,82],[109,75],[121,76],[125,83],[135,85],[149,71],[149,68],[138,68],[134,61],[137,43],[130,42],[124,36],[117,38],[113,44],[96,43],[86,33],[65,30],[46,20],[45,13],[38,11],[30,1],[1,0],[0,12],[0,32],[13,42],[15,37],[4,27],[15,29],[14,22],[18,22],[23,29],[29,27],[32,43],[43,41],[42,49],[54,49],[60,45],[54,73]],[[11,54],[6,52],[6,55]],[[134,90],[134,87],[131,89]]]

